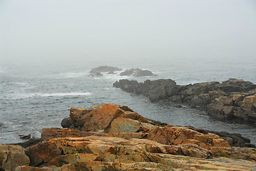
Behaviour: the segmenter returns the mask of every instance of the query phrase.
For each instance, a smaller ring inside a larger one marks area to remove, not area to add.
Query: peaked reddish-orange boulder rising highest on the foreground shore
[[[133,112],[133,110],[127,106],[102,104],[92,106],[89,109],[71,108],[70,118],[63,119],[61,125],[63,125],[64,128],[76,128],[83,131],[106,133],[109,131],[109,128],[111,128],[111,122],[116,118],[119,118],[119,120],[120,118],[130,118],[130,124],[135,122],[133,120],[148,123],[146,118]],[[128,119],[126,119],[126,121],[128,121]]]

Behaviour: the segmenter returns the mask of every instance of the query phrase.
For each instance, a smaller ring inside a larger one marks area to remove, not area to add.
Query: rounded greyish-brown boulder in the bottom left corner
[[[19,145],[0,144],[0,170],[14,171],[20,165],[29,165],[29,157]]]

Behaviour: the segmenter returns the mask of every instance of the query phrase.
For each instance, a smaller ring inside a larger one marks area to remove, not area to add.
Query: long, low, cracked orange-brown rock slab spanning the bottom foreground
[[[54,153],[46,157],[46,154],[51,152]],[[31,159],[33,158],[31,165],[55,168],[55,170],[84,170],[85,168],[88,170],[136,170],[136,168],[171,170],[198,165],[222,170],[227,167],[227,163],[233,165],[232,169],[256,166],[254,162],[237,163],[237,160],[232,159],[220,162],[217,158],[213,159],[214,156],[220,156],[222,152],[226,152],[230,157],[244,160],[254,160],[256,154],[255,149],[252,148],[215,146],[208,150],[190,143],[165,145],[147,139],[94,135],[85,138],[53,138],[26,148],[26,153]],[[42,162],[34,163],[34,161]],[[205,165],[205,163],[208,164]]]

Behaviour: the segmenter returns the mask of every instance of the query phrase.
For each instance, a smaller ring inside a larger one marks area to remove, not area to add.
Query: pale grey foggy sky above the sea
[[[0,62],[256,60],[255,0],[0,0]]]

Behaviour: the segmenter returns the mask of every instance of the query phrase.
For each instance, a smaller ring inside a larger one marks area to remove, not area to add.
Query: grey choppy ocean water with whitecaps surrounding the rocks
[[[93,67],[118,66],[145,68],[157,77],[133,78],[104,74],[91,78]],[[128,105],[146,118],[171,125],[193,125],[195,128],[241,133],[256,144],[256,125],[223,123],[191,108],[151,103],[143,95],[133,95],[113,88],[119,79],[145,81],[171,78],[178,84],[225,81],[241,78],[256,83],[255,61],[133,61],[122,63],[80,63],[75,65],[0,65],[0,143],[22,142],[19,135],[40,137],[42,128],[61,127],[71,107],[89,108],[101,103]]]

